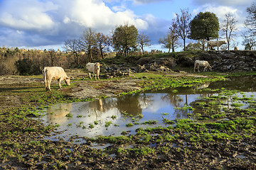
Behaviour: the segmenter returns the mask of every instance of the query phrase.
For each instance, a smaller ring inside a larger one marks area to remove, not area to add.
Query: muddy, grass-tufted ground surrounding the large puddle
[[[76,85],[72,89],[60,90],[65,91],[65,97],[114,97],[121,92],[141,89],[139,83],[142,79],[128,77],[90,81],[82,80],[85,75],[82,73],[68,74]],[[204,77],[186,72],[169,74],[174,77]],[[27,107],[32,103],[31,106],[35,106],[39,100],[26,101],[18,89],[26,92],[32,86],[38,91],[45,91],[40,84],[43,86],[43,79],[38,77],[0,77],[0,169],[256,169],[255,109],[227,111],[224,117],[251,120],[249,131],[242,128],[244,122],[234,125],[232,132],[212,124],[205,127],[181,123],[176,128],[138,129],[137,135],[85,137],[82,140],[86,142],[78,145],[75,141],[81,140],[79,137],[72,137],[69,141],[46,140],[47,136],[55,133],[54,128],[28,119],[32,113],[23,105]],[[58,89],[55,87],[53,91]],[[57,98],[53,92],[46,93]],[[245,137],[242,133],[248,135]],[[214,135],[208,137],[207,134]],[[92,148],[95,142],[102,147],[106,145],[105,149]]]

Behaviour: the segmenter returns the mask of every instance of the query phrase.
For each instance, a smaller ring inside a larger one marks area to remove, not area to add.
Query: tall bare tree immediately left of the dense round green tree
[[[188,13],[188,8],[181,9],[181,16],[176,13],[176,18],[173,20],[175,33],[183,40],[183,50],[186,51],[186,38],[188,36],[191,22],[191,13]]]

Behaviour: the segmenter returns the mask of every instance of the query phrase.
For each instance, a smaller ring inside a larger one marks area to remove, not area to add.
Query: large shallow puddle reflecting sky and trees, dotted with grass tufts
[[[238,81],[238,80],[235,80]],[[97,137],[98,135],[119,136],[122,132],[135,134],[137,128],[166,127],[164,118],[175,120],[188,118],[189,115],[200,113],[200,109],[191,110],[189,107],[203,101],[203,98],[218,96],[212,91],[202,89],[233,89],[230,84],[234,81],[218,81],[201,84],[192,89],[180,88],[174,93],[173,89],[164,91],[148,91],[141,94],[121,96],[119,98],[105,98],[97,101],[78,103],[59,103],[46,109],[46,115],[41,118],[46,125],[58,125],[57,131],[62,132],[58,137],[69,139],[71,136]],[[240,81],[239,81],[240,82]],[[232,98],[253,98],[255,100],[255,84],[248,84],[243,81],[247,92],[225,95],[228,98],[221,99],[222,108],[233,107],[232,103],[241,103]],[[239,84],[239,83],[237,83]],[[242,91],[246,91],[242,89]],[[241,90],[241,88],[239,89]],[[213,101],[210,101],[213,102]],[[250,106],[250,103],[241,103],[240,108]],[[70,116],[67,116],[70,115]],[[156,120],[156,123],[147,123]],[[110,123],[107,126],[107,123]],[[50,137],[54,139],[56,136]]]

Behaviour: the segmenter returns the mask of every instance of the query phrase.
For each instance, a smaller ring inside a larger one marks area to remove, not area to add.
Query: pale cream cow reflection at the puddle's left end
[[[68,115],[72,109],[72,103],[60,103],[59,108],[48,108],[47,119],[49,123],[57,123],[62,124],[64,123],[67,118],[65,115]]]

